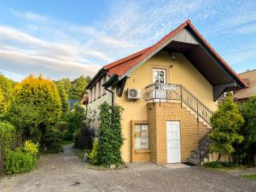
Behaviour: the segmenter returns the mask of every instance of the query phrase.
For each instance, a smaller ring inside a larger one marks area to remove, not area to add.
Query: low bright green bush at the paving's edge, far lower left
[[[6,175],[31,172],[36,167],[36,158],[20,150],[6,150],[3,159],[3,172]]]

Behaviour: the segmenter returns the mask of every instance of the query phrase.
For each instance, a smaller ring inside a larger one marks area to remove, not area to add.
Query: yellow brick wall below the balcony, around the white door
[[[167,163],[166,121],[175,120],[180,122],[181,159],[185,162],[207,132],[207,126],[198,123],[195,115],[187,108],[181,108],[177,102],[148,103],[147,108],[150,161],[155,164]]]

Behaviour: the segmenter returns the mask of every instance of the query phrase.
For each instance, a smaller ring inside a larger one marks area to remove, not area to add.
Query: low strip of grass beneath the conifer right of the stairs
[[[221,164],[219,164],[216,161],[204,163],[203,167],[206,167],[206,168],[212,169],[212,170],[222,171],[222,172],[228,172],[231,170],[239,170],[239,169],[245,168],[245,166],[237,165],[234,163],[221,162]]]

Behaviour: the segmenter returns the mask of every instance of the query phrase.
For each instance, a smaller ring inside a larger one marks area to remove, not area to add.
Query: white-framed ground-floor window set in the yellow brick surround
[[[135,149],[148,149],[148,125],[135,125]]]

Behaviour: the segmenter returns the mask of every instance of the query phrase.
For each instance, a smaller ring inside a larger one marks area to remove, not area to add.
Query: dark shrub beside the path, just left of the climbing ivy
[[[95,129],[90,125],[84,125],[82,129],[74,132],[74,147],[82,150],[85,148],[91,149],[95,136]]]

